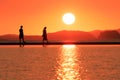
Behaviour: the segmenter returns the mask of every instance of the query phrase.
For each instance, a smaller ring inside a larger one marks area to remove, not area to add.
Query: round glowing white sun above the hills
[[[75,16],[72,13],[65,13],[62,17],[62,20],[65,24],[71,25],[75,22]]]

